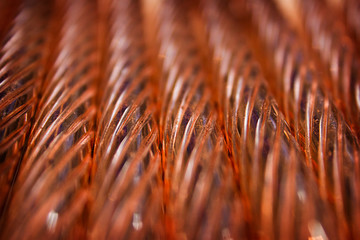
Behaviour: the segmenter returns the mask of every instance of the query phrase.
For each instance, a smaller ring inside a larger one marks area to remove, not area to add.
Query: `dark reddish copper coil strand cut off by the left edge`
[[[1,45],[0,216],[23,156],[44,78],[49,5],[25,1]]]

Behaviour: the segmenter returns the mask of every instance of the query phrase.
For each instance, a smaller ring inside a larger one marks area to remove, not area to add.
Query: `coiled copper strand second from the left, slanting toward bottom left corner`
[[[58,41],[14,187],[6,239],[85,236],[99,73],[96,8],[88,0],[54,7]]]

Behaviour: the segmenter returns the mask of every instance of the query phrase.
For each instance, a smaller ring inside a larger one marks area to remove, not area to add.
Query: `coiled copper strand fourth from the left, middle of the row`
[[[159,13],[162,158],[167,238],[249,238],[248,213],[214,107],[188,9]]]

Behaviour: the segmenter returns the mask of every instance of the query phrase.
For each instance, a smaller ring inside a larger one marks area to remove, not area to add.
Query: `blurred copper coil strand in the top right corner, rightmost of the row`
[[[337,17],[324,0],[301,0],[300,3],[311,45],[331,75],[334,99],[360,137],[360,58],[356,43],[342,18]],[[355,19],[353,23],[356,24]]]

